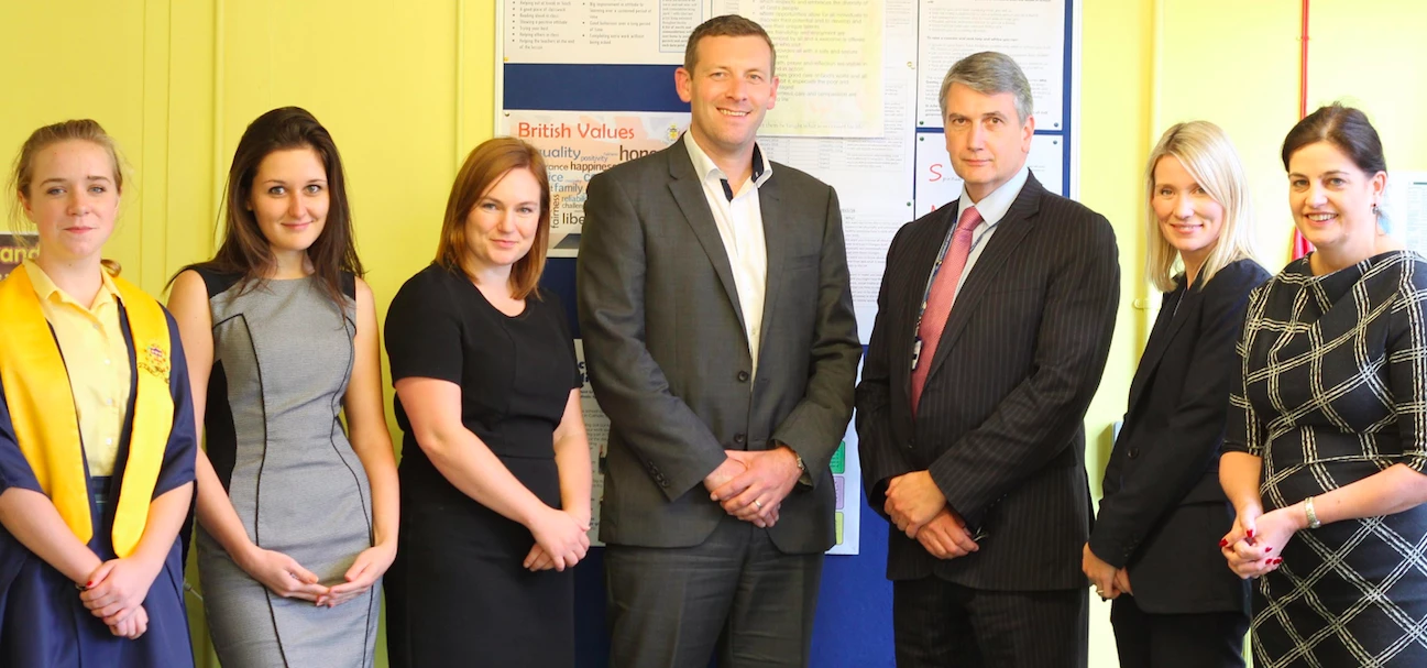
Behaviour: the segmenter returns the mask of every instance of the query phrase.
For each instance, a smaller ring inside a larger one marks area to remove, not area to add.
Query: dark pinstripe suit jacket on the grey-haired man
[[[936,572],[982,589],[1085,587],[1090,528],[1085,411],[1110,350],[1120,268],[1103,216],[1035,176],[962,278],[912,418],[912,341],[926,277],[955,206],[898,231],[858,387],[868,501],[889,478],[929,470],[983,532],[980,551],[939,561],[890,531],[888,578]]]

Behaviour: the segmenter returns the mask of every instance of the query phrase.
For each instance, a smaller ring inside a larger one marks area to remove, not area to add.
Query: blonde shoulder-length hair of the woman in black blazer
[[[1179,160],[1184,166],[1184,171],[1189,171],[1189,176],[1199,183],[1199,187],[1204,188],[1204,193],[1224,208],[1224,224],[1219,230],[1213,250],[1204,258],[1204,265],[1199,270],[1199,283],[1207,283],[1219,270],[1239,260],[1253,258],[1256,253],[1249,180],[1244,177],[1244,167],[1233,141],[1213,123],[1177,123],[1164,130],[1164,136],[1150,151],[1150,158],[1144,166],[1144,220],[1147,223],[1144,274],[1156,288],[1169,293],[1177,287],[1174,268],[1180,257],[1179,250],[1164,238],[1159,217],[1154,214],[1154,167],[1163,157]]]

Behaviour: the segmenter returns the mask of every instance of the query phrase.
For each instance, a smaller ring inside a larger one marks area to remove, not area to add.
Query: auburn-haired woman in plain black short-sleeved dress
[[[435,261],[387,313],[405,432],[392,667],[569,667],[589,548],[582,377],[559,300],[537,287],[545,163],[514,138],[457,174]]]

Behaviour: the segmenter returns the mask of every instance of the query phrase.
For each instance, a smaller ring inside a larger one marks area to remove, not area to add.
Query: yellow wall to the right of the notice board
[[[1120,240],[1120,320],[1100,391],[1086,417],[1092,487],[1124,411],[1159,307],[1146,284],[1144,156],[1173,123],[1206,118],[1234,140],[1249,173],[1260,261],[1289,261],[1293,217],[1279,150],[1299,120],[1300,0],[1083,0],[1080,198]],[[1417,0],[1313,0],[1309,111],[1343,100],[1367,111],[1393,170],[1427,170],[1427,9]],[[1139,300],[1139,301],[1137,301]],[[1109,605],[1092,602],[1090,665],[1113,667]]]

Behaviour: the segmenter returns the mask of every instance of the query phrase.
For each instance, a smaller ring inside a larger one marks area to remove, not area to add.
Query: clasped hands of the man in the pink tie
[[[920,542],[932,557],[955,560],[980,550],[966,521],[946,502],[946,495],[928,471],[892,478],[882,510],[899,531]]]

